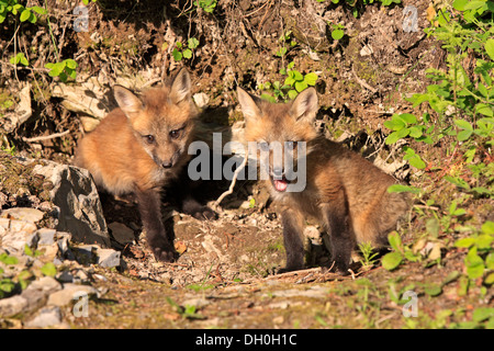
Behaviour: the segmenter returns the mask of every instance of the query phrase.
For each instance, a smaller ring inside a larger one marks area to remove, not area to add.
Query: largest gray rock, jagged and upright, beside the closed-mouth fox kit
[[[85,169],[45,161],[36,165],[34,173],[52,181],[49,192],[58,207],[59,231],[69,231],[72,240],[110,247],[110,237],[103,217],[100,197],[91,176]]]

